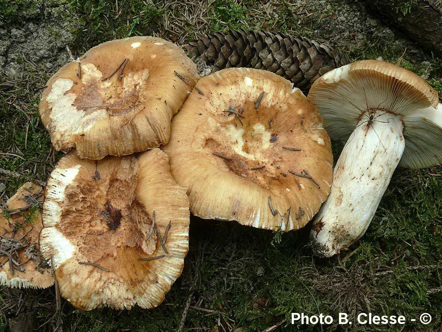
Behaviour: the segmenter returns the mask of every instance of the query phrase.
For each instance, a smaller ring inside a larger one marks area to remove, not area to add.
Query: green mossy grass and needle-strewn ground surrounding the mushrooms
[[[23,24],[25,19],[19,11],[23,3],[41,6],[39,1],[12,1],[3,6],[0,0],[0,19]],[[75,55],[81,55],[100,42],[137,34],[155,33],[180,43],[197,32],[238,28],[312,36],[315,20],[330,19],[339,1],[332,1],[331,12],[326,13],[329,18],[322,17],[323,13],[310,15],[288,1],[271,7],[260,1],[216,0],[212,6],[201,3],[205,16],[195,16],[196,6],[186,9],[182,1],[126,0],[118,1],[118,7],[114,1],[103,0],[64,1],[61,5],[48,1],[46,5],[62,11],[71,22],[74,41],[68,46]],[[170,18],[167,29],[164,13]],[[424,75],[442,93],[440,59],[427,56],[430,66],[413,62],[408,52],[401,57],[404,50],[389,46],[382,36],[367,38],[357,46],[348,44],[352,60],[382,56]],[[63,155],[52,149],[37,109],[39,91],[52,73],[44,63],[25,58],[21,65],[24,75],[18,81],[0,78],[0,130],[4,133],[0,136],[0,181],[6,184],[6,191],[0,194],[3,199],[25,181],[44,182]],[[333,144],[335,159],[341,149],[342,145]],[[389,331],[439,331],[442,178],[431,174],[441,175],[442,169],[397,170],[365,236],[331,259],[312,256],[306,241],[308,226],[282,234],[194,217],[183,275],[165,302],[151,310],[136,307],[131,311],[84,312],[63,301],[64,331],[177,331],[189,299],[183,331],[262,332],[281,322],[280,331],[319,331],[318,326],[287,323],[291,312],[313,315],[318,311],[333,317],[347,312],[353,321],[359,312],[403,314],[409,319],[426,311],[433,315],[429,325],[407,322],[405,327],[388,327]],[[48,322],[40,331],[53,331],[56,326],[53,288],[43,292],[3,289],[1,297],[0,331],[6,329],[5,318],[23,312],[33,312],[39,324]],[[20,308],[18,302],[13,303],[19,298],[26,299]],[[46,305],[36,306],[36,302]],[[334,323],[324,331],[346,329]],[[365,326],[364,331],[380,330]]]

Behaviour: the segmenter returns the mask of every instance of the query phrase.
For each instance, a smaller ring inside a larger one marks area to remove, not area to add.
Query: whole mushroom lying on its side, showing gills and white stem
[[[441,164],[442,107],[421,77],[378,60],[328,72],[313,84],[308,100],[320,110],[331,139],[348,139],[310,234],[315,254],[330,257],[365,233],[398,164]]]

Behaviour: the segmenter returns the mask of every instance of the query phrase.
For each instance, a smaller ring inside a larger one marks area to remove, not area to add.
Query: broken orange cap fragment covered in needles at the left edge
[[[0,210],[2,286],[47,288],[54,284],[52,270],[41,256],[38,245],[38,235],[43,227],[38,209],[40,199],[43,199],[43,188],[26,182],[6,202],[7,213]],[[5,254],[11,249],[12,261]]]

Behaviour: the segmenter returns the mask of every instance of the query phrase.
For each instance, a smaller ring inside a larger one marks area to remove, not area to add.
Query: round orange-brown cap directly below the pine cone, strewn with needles
[[[230,68],[202,78],[163,149],[202,218],[289,231],[330,193],[330,140],[318,110],[268,71]]]

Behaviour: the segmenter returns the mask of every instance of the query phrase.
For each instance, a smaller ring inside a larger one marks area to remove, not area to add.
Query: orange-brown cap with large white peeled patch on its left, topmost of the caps
[[[199,76],[183,50],[155,37],[112,40],[62,67],[39,105],[57,151],[126,155],[167,143],[170,120]]]

